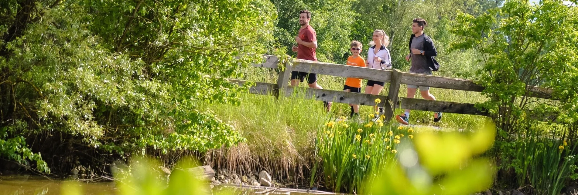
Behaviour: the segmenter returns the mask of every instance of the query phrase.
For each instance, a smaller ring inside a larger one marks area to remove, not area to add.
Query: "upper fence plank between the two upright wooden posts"
[[[391,79],[391,70],[377,70],[369,67],[339,65],[305,59],[293,59],[293,70],[338,77],[364,78],[374,81],[390,82]]]

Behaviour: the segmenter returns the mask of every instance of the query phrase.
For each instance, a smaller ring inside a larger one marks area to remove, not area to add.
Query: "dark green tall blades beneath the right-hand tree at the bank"
[[[568,144],[565,132],[551,132],[529,128],[516,141],[498,143],[504,157],[511,155],[506,168],[514,170],[518,186],[531,185],[528,192],[560,194],[575,174],[576,144]]]

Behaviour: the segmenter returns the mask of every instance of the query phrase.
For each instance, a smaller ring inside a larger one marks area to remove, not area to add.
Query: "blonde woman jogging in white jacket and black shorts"
[[[367,51],[367,67],[379,70],[391,69],[391,55],[390,50],[387,49],[387,46],[390,45],[390,37],[383,30],[377,29],[373,31],[372,39],[373,41],[369,43],[372,47]],[[384,81],[368,80],[365,93],[379,95],[384,85]],[[377,107],[375,107],[375,111],[377,112]],[[383,107],[379,108],[379,113],[383,113]],[[377,118],[379,115],[375,116],[375,119]]]

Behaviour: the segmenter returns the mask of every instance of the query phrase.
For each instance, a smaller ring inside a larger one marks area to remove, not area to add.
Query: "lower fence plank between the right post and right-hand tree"
[[[413,98],[399,98],[400,108],[442,113],[470,114],[486,116],[486,111],[479,111],[470,103],[443,102]]]

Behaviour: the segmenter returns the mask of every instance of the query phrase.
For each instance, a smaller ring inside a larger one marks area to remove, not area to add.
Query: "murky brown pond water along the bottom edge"
[[[21,195],[21,194],[46,194],[59,195],[61,194],[62,180],[49,180],[47,178],[18,175],[0,177],[0,195]],[[261,195],[264,192],[273,190],[274,188],[238,188],[236,186],[217,186],[218,190],[234,191],[236,195]],[[84,195],[106,195],[117,194],[114,182],[90,182],[82,184],[82,191]],[[305,190],[299,189],[277,189],[269,194],[334,194],[320,191],[307,193]]]

